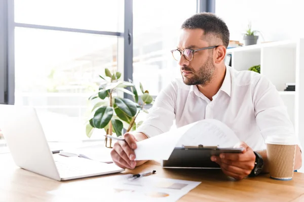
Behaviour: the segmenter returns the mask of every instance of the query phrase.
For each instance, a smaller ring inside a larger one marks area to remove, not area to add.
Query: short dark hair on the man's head
[[[213,34],[220,38],[225,47],[229,44],[229,29],[226,23],[213,13],[198,13],[186,19],[182,29],[203,29],[206,34]],[[212,44],[217,45],[217,44]]]

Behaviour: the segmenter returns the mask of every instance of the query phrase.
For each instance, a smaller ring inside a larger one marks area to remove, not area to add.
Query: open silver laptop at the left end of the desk
[[[0,128],[15,164],[33,173],[62,181],[125,170],[85,158],[54,158],[34,108],[0,105]]]

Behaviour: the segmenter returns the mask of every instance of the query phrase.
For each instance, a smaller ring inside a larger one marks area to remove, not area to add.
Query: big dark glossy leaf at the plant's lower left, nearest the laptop
[[[103,106],[96,110],[93,117],[93,125],[95,128],[104,128],[113,116],[113,109],[108,106]]]

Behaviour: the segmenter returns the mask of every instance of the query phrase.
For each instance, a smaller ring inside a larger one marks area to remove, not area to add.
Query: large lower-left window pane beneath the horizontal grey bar
[[[105,68],[117,69],[117,41],[117,36],[15,28],[15,105],[36,108],[48,140],[86,138],[88,97]]]

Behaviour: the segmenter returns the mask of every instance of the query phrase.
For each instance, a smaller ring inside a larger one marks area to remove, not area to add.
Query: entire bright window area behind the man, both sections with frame
[[[7,102],[9,92],[10,104],[35,107],[49,141],[88,139],[88,97],[97,89],[98,75],[104,68],[124,69],[135,84],[142,82],[157,95],[180,76],[170,50],[176,47],[180,25],[196,13],[199,2],[0,1],[0,73],[8,83],[0,85],[0,103]],[[134,43],[124,43],[124,30]],[[128,57],[132,51],[133,67]],[[99,134],[91,138],[101,138],[103,130],[95,131]]]

